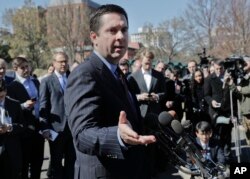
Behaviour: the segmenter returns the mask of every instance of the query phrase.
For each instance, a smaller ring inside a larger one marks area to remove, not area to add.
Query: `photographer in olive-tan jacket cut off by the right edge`
[[[243,115],[243,126],[246,130],[246,140],[247,144],[250,145],[250,58],[245,57],[244,61],[246,65],[243,70],[246,73],[245,76],[241,79],[240,84],[235,84],[233,79],[229,77],[228,84],[230,89],[238,94],[240,100],[240,109]]]

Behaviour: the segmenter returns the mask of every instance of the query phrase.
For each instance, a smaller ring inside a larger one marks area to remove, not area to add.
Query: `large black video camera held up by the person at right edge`
[[[242,79],[245,75],[244,67],[246,66],[246,62],[243,57],[234,56],[225,59],[224,69],[230,73],[235,82],[238,79]]]

